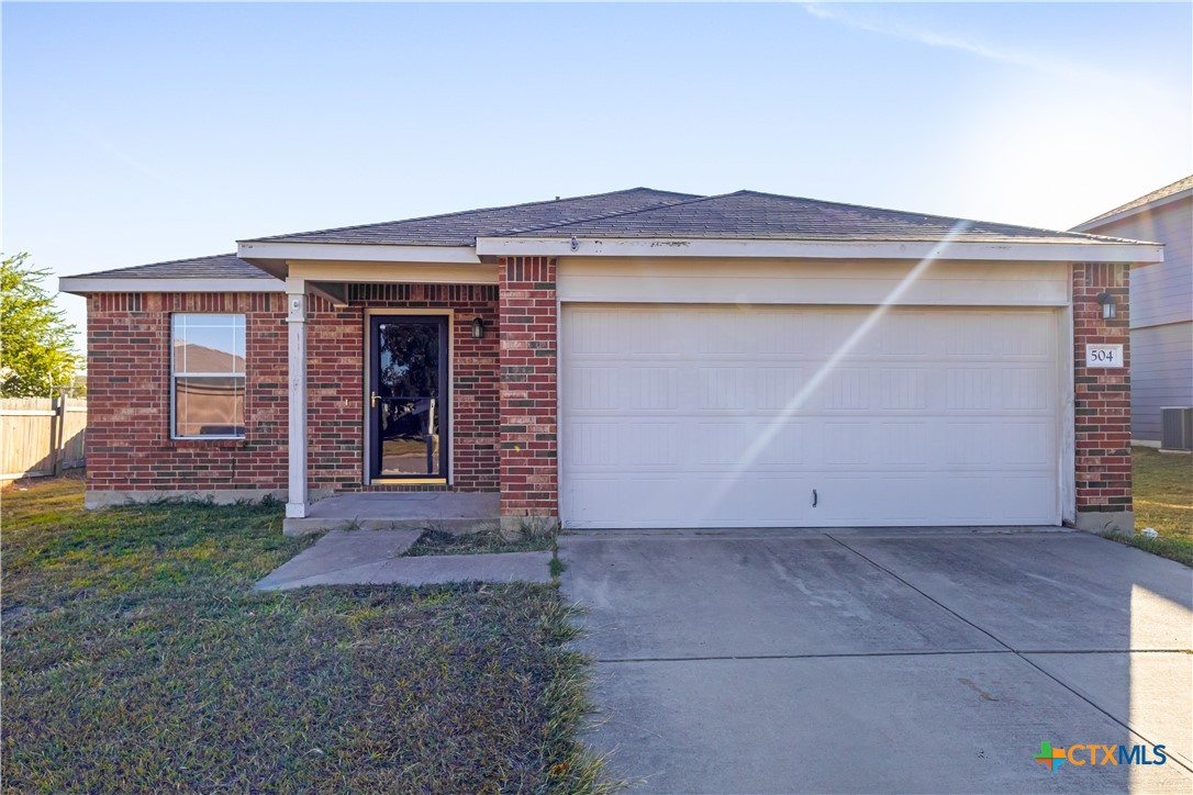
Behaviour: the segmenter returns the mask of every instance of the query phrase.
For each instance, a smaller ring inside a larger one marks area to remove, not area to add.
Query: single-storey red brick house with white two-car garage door
[[[500,492],[509,524],[1129,527],[1129,371],[1086,346],[1125,354],[1101,303],[1161,259],[633,188],[64,278],[87,504],[268,493],[297,520],[455,490]]]

